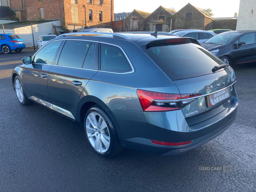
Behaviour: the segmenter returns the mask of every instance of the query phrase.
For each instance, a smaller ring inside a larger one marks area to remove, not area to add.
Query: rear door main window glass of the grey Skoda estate
[[[90,44],[88,41],[66,41],[58,65],[81,68]]]

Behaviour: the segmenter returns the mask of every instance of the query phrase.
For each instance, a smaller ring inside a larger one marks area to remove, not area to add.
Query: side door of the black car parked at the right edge
[[[239,42],[245,42],[244,46],[233,46]],[[247,33],[241,36],[232,45],[233,51],[230,55],[233,58],[233,63],[247,63],[256,60],[256,43],[255,43],[255,33]]]

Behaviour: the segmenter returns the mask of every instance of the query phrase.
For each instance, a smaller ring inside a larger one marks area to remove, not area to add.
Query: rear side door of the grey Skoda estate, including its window
[[[98,43],[67,40],[55,66],[49,70],[48,90],[52,109],[76,118],[79,97],[88,81],[97,73]]]

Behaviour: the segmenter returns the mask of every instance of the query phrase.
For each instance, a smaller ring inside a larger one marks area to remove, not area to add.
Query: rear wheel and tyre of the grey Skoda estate
[[[93,106],[85,114],[84,130],[88,142],[102,157],[113,157],[124,149],[110,117],[98,106]]]

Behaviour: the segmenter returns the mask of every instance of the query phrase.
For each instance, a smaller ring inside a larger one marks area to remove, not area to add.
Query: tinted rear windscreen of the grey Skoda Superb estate
[[[212,72],[216,65],[224,64],[212,53],[196,44],[148,44],[148,56],[170,79],[188,79]]]

